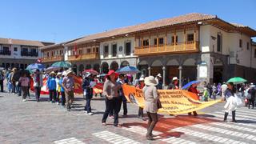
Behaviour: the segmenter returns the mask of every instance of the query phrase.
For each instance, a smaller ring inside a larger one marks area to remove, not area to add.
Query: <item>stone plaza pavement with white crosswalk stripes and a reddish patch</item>
[[[154,129],[156,140],[150,142],[145,138],[146,121],[137,118],[137,106],[128,104],[127,118],[120,112],[123,127],[118,128],[110,118],[102,126],[103,99],[91,102],[94,115],[84,113],[84,103],[77,97],[74,110],[67,112],[47,102],[46,95],[42,102],[34,97],[22,102],[14,94],[0,93],[0,143],[256,143],[256,110],[246,107],[237,110],[238,123],[222,122],[224,103],[202,110],[197,118],[161,114]]]

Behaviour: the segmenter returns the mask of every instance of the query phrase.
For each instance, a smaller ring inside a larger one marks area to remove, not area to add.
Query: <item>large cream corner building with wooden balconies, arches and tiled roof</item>
[[[216,15],[185,14],[67,42],[66,60],[74,70],[101,73],[137,66],[145,75],[162,74],[164,85],[174,76],[206,82],[240,76],[255,82],[255,36],[250,27]]]

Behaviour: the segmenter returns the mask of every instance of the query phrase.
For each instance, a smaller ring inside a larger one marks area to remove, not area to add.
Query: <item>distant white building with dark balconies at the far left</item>
[[[39,47],[52,44],[54,43],[0,38],[0,65],[6,69],[25,69],[27,65],[41,58]]]

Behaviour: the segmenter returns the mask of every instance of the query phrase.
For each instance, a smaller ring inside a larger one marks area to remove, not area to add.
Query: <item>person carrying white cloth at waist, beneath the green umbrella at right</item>
[[[225,108],[225,114],[224,114],[224,122],[226,122],[227,116],[230,112],[232,112],[232,122],[237,122],[235,120],[235,110],[238,108],[238,104],[236,102],[236,99],[234,98],[234,94],[236,93],[236,90],[234,88],[233,82],[227,83],[227,89],[224,93],[226,98],[226,105]]]

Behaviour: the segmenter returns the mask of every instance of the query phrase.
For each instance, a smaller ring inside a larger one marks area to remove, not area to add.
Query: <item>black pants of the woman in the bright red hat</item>
[[[103,114],[102,122],[106,122],[106,118],[110,114],[110,110],[114,110],[114,125],[118,125],[118,100],[118,98],[113,98],[110,100],[106,98],[106,110]]]

